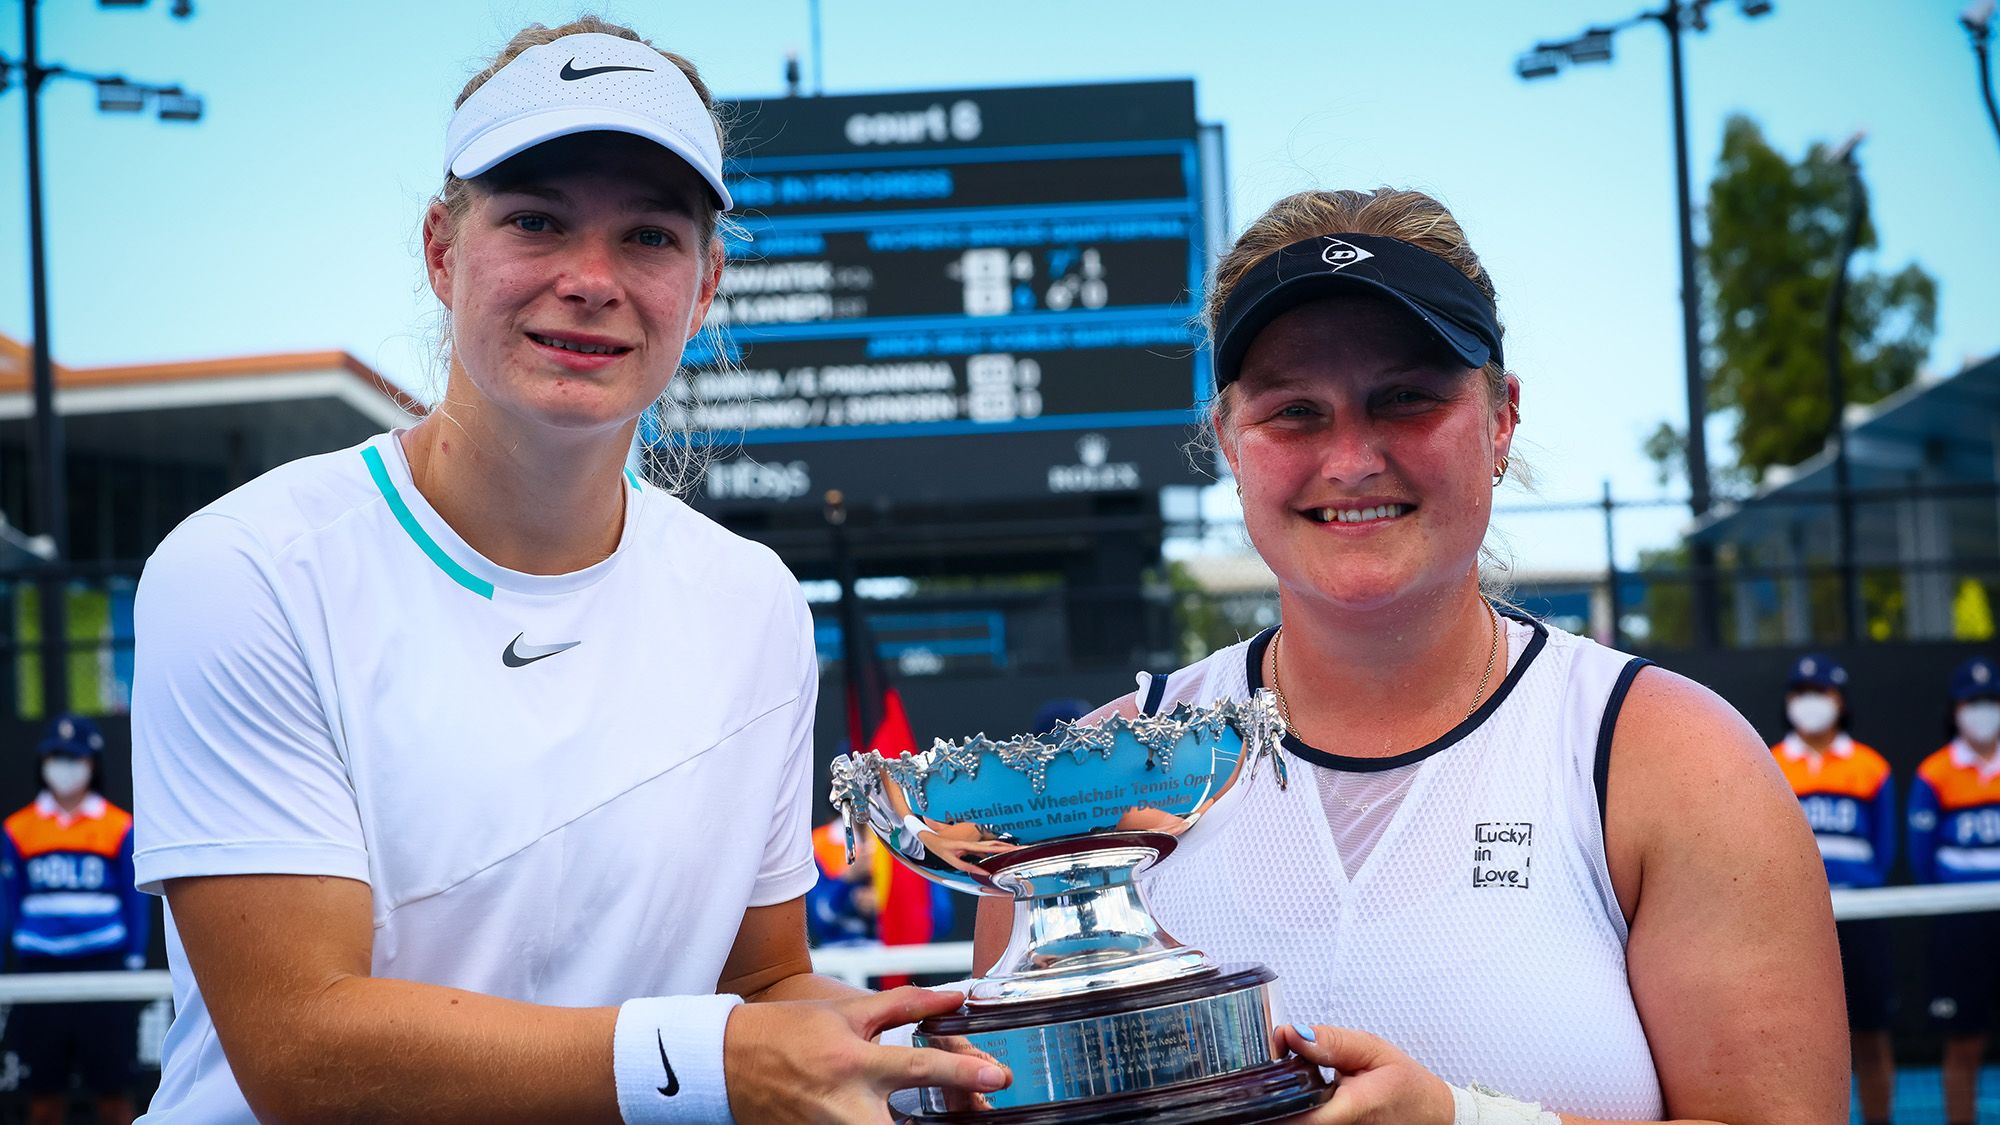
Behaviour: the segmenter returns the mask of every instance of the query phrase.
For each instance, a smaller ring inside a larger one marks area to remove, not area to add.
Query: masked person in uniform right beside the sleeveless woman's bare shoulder
[[[1846,685],[1848,671],[1832,659],[1800,657],[1784,685],[1790,731],[1772,755],[1812,825],[1826,881],[1880,887],[1896,859],[1896,781],[1888,759],[1848,735]],[[1874,1125],[1888,1121],[1896,1081],[1890,1047],[1894,961],[1880,919],[1840,923],[1838,935],[1854,1079],[1862,1119]]]

